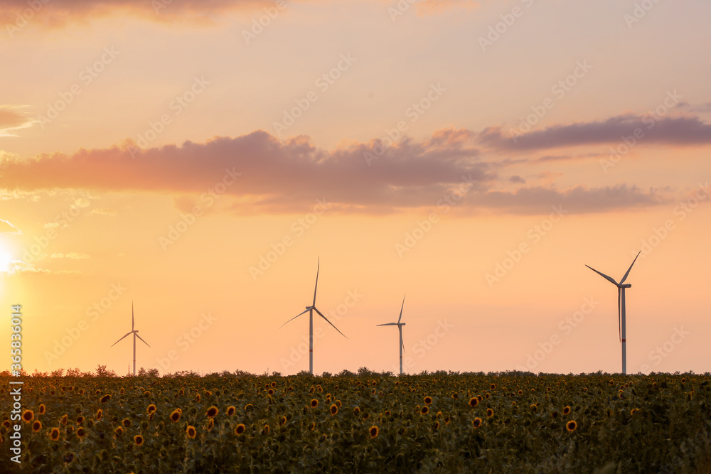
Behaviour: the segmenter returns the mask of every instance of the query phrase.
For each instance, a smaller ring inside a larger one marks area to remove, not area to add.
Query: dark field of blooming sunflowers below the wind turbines
[[[709,375],[0,379],[4,472],[711,472]]]

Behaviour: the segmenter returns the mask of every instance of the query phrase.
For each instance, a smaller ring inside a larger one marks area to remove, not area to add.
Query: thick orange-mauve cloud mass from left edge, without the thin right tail
[[[326,151],[305,136],[279,141],[255,131],[145,151],[124,144],[72,155],[7,158],[0,163],[0,177],[9,190],[225,193],[240,198],[243,210],[255,212],[297,210],[316,198],[345,206],[412,207],[436,203],[462,176],[471,176],[480,186],[496,179],[496,166],[477,158],[474,136],[447,129],[387,149],[373,140]],[[375,157],[370,166],[365,153]]]

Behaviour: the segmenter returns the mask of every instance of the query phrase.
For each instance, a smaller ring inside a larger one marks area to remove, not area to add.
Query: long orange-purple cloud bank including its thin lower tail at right
[[[525,184],[525,179],[498,172],[520,160],[484,161],[476,147],[479,137],[466,129],[443,129],[421,141],[405,138],[383,144],[374,139],[325,150],[307,136],[279,141],[254,131],[203,144],[186,141],[139,150],[127,142],[71,155],[6,158],[0,163],[0,178],[7,187],[21,190],[170,194],[181,212],[191,212],[195,205],[235,214],[303,212],[316,199],[325,199],[332,212],[384,214],[434,208],[462,181],[474,182],[457,205],[456,212],[464,214],[545,213],[561,204],[571,212],[606,212],[668,203],[658,190],[624,184],[513,190],[512,185]],[[220,205],[211,208],[210,201]]]

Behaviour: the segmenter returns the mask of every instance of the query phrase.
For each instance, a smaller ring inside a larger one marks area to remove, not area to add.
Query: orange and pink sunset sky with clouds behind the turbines
[[[710,15],[0,0],[24,369],[709,372]]]

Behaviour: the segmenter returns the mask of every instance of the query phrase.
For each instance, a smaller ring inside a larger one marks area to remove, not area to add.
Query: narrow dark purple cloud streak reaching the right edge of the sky
[[[711,124],[697,117],[663,117],[626,114],[604,122],[555,125],[528,134],[506,136],[501,127],[484,129],[479,142],[496,149],[537,150],[562,146],[619,143],[638,130],[641,144],[708,145]]]

